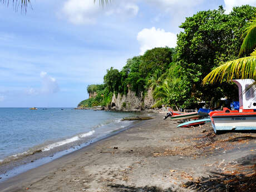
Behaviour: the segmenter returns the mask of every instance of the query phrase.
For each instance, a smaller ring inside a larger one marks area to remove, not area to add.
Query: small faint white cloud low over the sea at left
[[[41,88],[28,88],[26,90],[28,95],[50,94],[60,91],[56,79],[49,76],[47,72],[42,71],[40,73],[40,77],[42,83]]]

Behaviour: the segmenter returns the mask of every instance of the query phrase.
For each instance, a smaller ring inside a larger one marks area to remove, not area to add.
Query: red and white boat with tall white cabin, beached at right
[[[223,111],[209,113],[215,134],[234,130],[256,130],[256,92],[248,86],[251,79],[233,80],[239,90],[239,110],[224,107]]]

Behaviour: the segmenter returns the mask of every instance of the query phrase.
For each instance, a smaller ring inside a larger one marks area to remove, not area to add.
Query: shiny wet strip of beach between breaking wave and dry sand
[[[21,157],[18,156],[16,159],[13,159],[13,160],[11,159],[9,161],[6,161],[6,159],[4,159],[2,161],[2,163],[0,163],[0,184],[3,181],[12,178],[13,176],[22,174],[30,169],[35,169],[38,166],[50,163],[53,160],[56,160],[62,156],[65,156],[72,152],[80,150],[83,147],[87,147],[89,145],[92,145],[95,142],[99,142],[108,137],[119,134],[122,131],[131,129],[132,127],[134,127],[138,124],[141,124],[141,122],[133,121],[129,125],[122,127],[120,129],[117,129],[117,130],[113,130],[111,133],[109,133],[107,135],[95,137],[94,139],[88,137],[88,139],[87,139],[88,141],[86,141],[86,142],[82,142],[82,143],[78,143],[78,144],[77,144],[77,142],[68,143],[67,146],[65,146],[65,145],[58,146],[52,150],[47,150],[47,151],[42,151],[40,149],[40,150],[31,152],[31,154],[29,152],[25,151],[25,152],[22,152],[21,155],[22,154],[27,154],[27,155],[24,155]],[[66,140],[66,139],[64,139],[64,140]],[[61,140],[61,141],[63,141],[63,140]],[[39,145],[39,146],[41,146],[41,145]],[[17,154],[17,155],[19,155],[19,154]],[[9,156],[7,159],[11,158],[12,156]],[[14,156],[16,156],[16,155],[14,155]]]

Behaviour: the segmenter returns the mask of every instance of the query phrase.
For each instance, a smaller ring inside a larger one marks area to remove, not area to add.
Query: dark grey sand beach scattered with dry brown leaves
[[[17,175],[0,191],[255,191],[255,133],[215,135],[209,123],[176,128],[162,119]]]

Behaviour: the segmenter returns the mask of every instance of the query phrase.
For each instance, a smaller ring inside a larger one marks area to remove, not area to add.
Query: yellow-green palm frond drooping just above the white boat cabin
[[[229,61],[215,68],[203,79],[203,85],[206,82],[214,83],[222,82],[225,77],[226,81],[235,78],[252,78],[256,80],[256,55],[238,58],[237,60]]]

